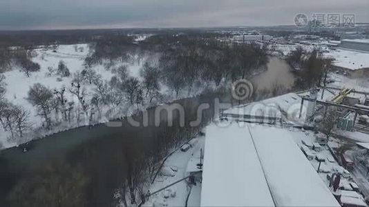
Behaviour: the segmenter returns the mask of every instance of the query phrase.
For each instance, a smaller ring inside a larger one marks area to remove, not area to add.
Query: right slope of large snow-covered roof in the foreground
[[[250,130],[276,206],[339,206],[288,130]]]

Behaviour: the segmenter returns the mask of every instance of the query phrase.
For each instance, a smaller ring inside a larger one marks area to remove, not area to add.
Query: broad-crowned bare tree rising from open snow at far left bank
[[[46,88],[41,83],[35,83],[30,90],[28,90],[28,97],[26,98],[32,106],[37,107],[39,115],[46,121],[46,127],[50,129],[51,119],[51,101],[53,101],[53,92]]]

